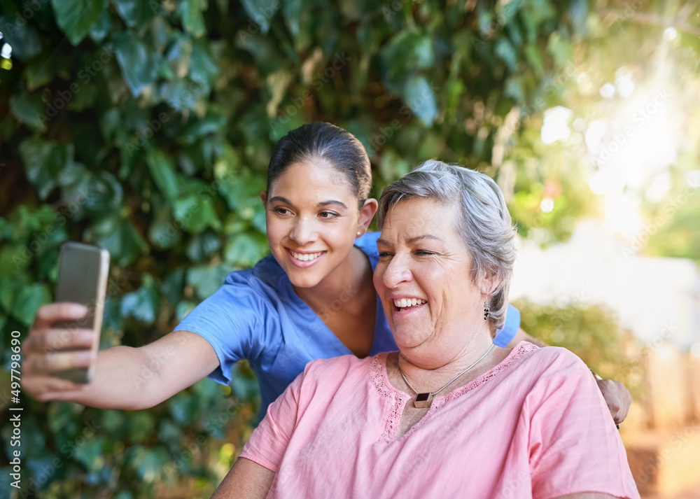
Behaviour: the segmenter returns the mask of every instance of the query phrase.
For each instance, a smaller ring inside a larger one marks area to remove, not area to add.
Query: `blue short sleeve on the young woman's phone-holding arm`
[[[231,381],[238,360],[258,358],[265,349],[276,351],[279,343],[279,314],[246,281],[247,276],[245,271],[229,274],[223,286],[174,329],[195,332],[211,344],[219,367],[209,377],[221,384]]]

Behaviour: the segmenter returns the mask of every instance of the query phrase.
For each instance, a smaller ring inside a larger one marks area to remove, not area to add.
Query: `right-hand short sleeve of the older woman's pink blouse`
[[[523,414],[530,418],[533,498],[586,491],[638,498],[622,440],[594,377],[573,353],[557,350],[561,355],[524,405]]]

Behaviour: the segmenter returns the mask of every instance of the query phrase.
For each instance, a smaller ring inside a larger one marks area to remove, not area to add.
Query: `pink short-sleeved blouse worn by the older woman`
[[[412,397],[386,353],[311,361],[241,457],[276,472],[269,498],[639,498],[615,423],[573,353],[521,342],[396,438]]]

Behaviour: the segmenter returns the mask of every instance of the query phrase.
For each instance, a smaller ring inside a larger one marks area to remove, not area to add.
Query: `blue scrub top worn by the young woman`
[[[372,271],[379,261],[378,237],[379,232],[367,232],[355,241],[355,246],[369,258]],[[510,307],[505,327],[493,342],[507,345],[519,327],[520,313]],[[214,347],[219,367],[209,378],[218,383],[228,384],[233,365],[242,358],[248,359],[260,383],[260,419],[309,361],[352,354],[297,296],[272,255],[262,258],[252,269],[228,274],[223,286],[197,305],[175,330],[195,332]],[[377,297],[370,356],[397,350]]]

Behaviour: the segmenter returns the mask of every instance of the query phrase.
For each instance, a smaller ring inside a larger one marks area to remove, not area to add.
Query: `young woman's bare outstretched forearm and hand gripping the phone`
[[[218,367],[206,339],[190,331],[176,331],[133,348],[114,346],[99,351],[97,369],[88,384],[55,376],[61,370],[86,367],[91,330],[56,326],[85,314],[78,304],[52,303],[41,307],[22,344],[22,388],[36,400],[71,400],[90,407],[146,409],[195,384]]]

